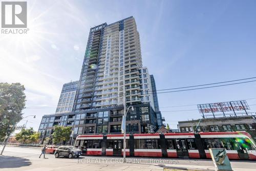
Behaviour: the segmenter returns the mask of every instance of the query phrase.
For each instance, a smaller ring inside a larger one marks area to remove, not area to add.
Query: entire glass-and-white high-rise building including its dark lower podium
[[[68,99],[69,93],[62,92],[56,113],[42,118],[38,130],[42,135],[50,135],[54,125],[72,126],[73,138],[79,134],[121,134],[124,102],[134,106],[126,117],[127,133],[148,133],[163,124],[155,80],[142,66],[140,37],[132,16],[90,29],[75,84],[72,111],[66,100],[73,94]]]

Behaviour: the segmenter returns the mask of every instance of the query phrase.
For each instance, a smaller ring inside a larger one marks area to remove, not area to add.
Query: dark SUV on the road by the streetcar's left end
[[[58,158],[60,156],[68,158],[79,157],[81,155],[81,150],[73,146],[60,146],[56,149],[54,155],[55,158]]]

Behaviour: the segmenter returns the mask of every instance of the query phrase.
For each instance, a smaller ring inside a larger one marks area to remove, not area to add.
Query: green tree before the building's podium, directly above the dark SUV
[[[70,139],[70,134],[72,130],[70,126],[54,126],[54,132],[52,134],[53,143],[59,144],[63,141],[68,141]]]

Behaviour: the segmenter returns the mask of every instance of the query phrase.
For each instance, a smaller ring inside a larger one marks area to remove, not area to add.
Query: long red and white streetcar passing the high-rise
[[[210,158],[209,148],[226,148],[229,159],[256,160],[255,142],[246,132],[126,135],[126,156]],[[122,156],[123,135],[79,135],[82,155]]]

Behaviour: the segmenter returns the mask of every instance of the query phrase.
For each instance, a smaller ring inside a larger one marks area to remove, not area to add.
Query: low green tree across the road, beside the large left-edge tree
[[[39,137],[40,133],[35,132],[32,127],[26,130],[22,129],[22,131],[15,135],[16,140],[22,143],[35,143]]]

